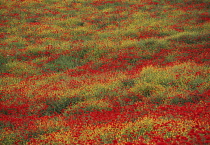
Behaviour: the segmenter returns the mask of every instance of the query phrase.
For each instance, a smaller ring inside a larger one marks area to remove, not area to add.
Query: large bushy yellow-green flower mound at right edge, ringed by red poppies
[[[195,77],[201,70],[203,75]],[[193,63],[183,63],[167,69],[150,66],[142,70],[141,76],[134,80],[130,91],[149,97],[149,102],[154,104],[167,103],[169,98],[173,98],[169,99],[171,104],[196,103],[201,99],[199,95],[183,93],[183,90],[188,92],[198,90],[200,93],[208,90],[209,77],[204,74],[207,75],[206,68]],[[180,93],[185,95],[175,97]]]

